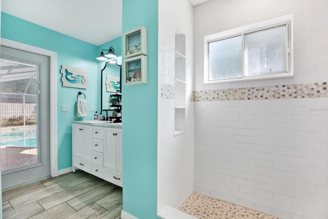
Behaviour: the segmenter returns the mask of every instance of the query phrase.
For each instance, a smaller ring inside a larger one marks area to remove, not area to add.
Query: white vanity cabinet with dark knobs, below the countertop
[[[78,168],[122,187],[120,126],[112,128],[73,123],[72,129],[73,172]]]

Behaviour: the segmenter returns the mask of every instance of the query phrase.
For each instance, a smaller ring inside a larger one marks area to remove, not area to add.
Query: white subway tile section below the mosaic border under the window
[[[326,219],[327,124],[328,98],[195,102],[195,191]]]

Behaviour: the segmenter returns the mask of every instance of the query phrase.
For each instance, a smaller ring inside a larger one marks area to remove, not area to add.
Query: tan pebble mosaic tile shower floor
[[[270,214],[218,200],[198,192],[193,192],[179,207],[179,210],[200,219],[279,219]]]

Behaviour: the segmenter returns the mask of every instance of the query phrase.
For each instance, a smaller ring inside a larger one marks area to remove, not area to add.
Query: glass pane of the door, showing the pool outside
[[[1,172],[39,164],[37,69],[0,59]]]

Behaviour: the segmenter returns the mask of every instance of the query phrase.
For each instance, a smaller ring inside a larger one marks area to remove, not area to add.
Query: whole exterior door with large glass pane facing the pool
[[[2,188],[50,175],[49,57],[1,47]]]

